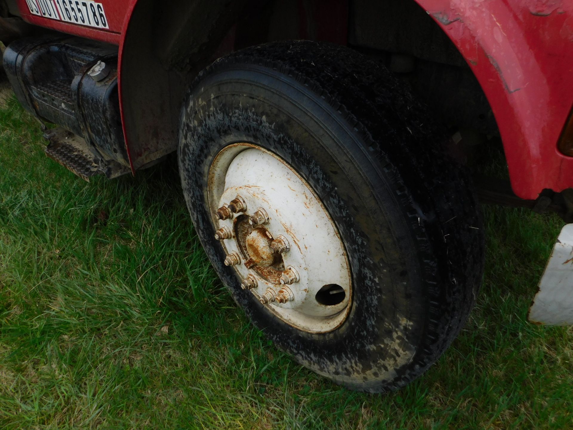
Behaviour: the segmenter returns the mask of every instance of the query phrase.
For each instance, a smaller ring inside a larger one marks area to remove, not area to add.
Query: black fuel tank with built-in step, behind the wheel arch
[[[117,92],[117,46],[70,36],[24,38],[6,48],[3,63],[27,110],[82,136],[104,159],[129,166]],[[103,71],[93,73],[96,64],[105,64]]]

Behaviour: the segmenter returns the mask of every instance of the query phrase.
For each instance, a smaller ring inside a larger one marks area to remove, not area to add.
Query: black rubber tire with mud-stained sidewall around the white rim
[[[179,168],[205,251],[233,298],[276,345],[337,384],[383,392],[422,374],[453,341],[483,271],[478,206],[444,134],[386,68],[354,51],[280,42],[203,71],[183,107]],[[345,322],[309,334],[282,322],[223,265],[207,171],[228,144],[279,155],[328,209],[346,246]]]

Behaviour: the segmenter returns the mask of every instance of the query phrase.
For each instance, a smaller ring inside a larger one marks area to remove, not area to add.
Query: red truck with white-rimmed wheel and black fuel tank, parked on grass
[[[337,384],[399,388],[456,337],[484,268],[476,189],[573,218],[571,2],[0,0],[0,17],[16,97],[57,124],[46,154],[89,179],[176,152],[222,283]],[[464,150],[488,139],[510,190],[470,183]],[[569,227],[534,322],[573,322]]]

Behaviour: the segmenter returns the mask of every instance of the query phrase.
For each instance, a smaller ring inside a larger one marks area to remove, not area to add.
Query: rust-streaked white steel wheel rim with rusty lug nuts
[[[231,144],[211,163],[207,193],[225,264],[266,310],[309,333],[344,322],[352,299],[346,249],[320,198],[292,166],[254,144]]]

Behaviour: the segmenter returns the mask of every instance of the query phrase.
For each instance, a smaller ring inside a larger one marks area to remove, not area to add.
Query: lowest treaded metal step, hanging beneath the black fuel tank
[[[95,175],[116,178],[131,171],[115,161],[105,161],[84,139],[64,128],[54,128],[44,137],[49,140],[46,155],[88,182]]]

